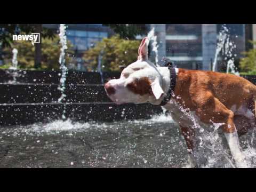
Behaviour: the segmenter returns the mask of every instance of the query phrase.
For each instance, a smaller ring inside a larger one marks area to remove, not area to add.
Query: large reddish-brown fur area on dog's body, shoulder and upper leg
[[[175,100],[196,111],[202,122],[225,123],[223,131],[231,133],[235,124],[230,108],[239,108],[243,103],[253,107],[256,86],[235,75],[179,69],[174,94],[179,96]]]

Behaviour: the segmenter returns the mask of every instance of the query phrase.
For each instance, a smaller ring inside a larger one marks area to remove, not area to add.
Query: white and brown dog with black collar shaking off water
[[[238,134],[255,123],[256,86],[242,77],[212,71],[156,67],[148,60],[148,38],[139,47],[138,60],[127,66],[119,79],[105,84],[108,97],[117,104],[145,103],[161,105],[171,111],[186,140],[190,162],[196,138],[193,122],[181,111],[193,111],[203,124],[222,123],[237,167],[246,167]],[[174,83],[174,85],[173,85]]]

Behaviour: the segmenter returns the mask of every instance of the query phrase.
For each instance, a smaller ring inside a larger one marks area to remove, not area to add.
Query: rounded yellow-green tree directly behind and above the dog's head
[[[97,70],[99,55],[102,55],[104,71],[119,71],[119,66],[127,66],[137,60],[139,41],[125,40],[119,35],[103,38],[92,49],[86,51],[83,59],[92,70]]]

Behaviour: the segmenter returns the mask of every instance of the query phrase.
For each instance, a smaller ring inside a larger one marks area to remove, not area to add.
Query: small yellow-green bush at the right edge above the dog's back
[[[251,43],[256,45],[256,42]],[[239,63],[241,71],[247,74],[256,74],[256,49],[251,49],[243,54],[245,57]]]

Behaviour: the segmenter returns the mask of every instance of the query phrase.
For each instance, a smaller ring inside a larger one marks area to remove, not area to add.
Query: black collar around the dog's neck
[[[175,84],[176,84],[176,72],[175,72],[175,68],[172,66],[172,62],[166,62],[165,67],[168,67],[168,69],[170,70],[171,81],[170,81],[169,90],[166,93],[163,101],[160,103],[160,106],[165,106],[167,104],[167,102],[170,101],[172,94],[174,94],[174,88],[175,88]]]

